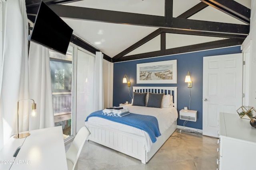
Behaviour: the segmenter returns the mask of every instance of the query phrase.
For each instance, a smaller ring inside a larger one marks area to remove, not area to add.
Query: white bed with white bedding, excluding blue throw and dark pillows
[[[177,87],[133,87],[133,92],[164,93],[172,98],[172,106],[169,107],[154,108],[132,106],[132,104],[124,106],[130,110],[130,113],[142,115],[157,113],[155,117],[158,120],[161,135],[156,138],[156,142],[153,143],[143,130],[100,117],[88,118],[85,125],[91,133],[88,140],[137,158],[146,164],[177,128]],[[164,119],[160,117],[164,114],[168,116],[168,123],[164,123]]]

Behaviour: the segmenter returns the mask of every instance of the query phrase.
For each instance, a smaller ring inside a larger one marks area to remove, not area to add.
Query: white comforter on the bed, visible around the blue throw
[[[130,113],[136,113],[141,115],[152,115],[156,117],[158,120],[160,133],[163,134],[166,129],[168,129],[174,121],[178,118],[178,111],[175,107],[165,107],[165,108],[154,108],[154,107],[143,107],[143,106],[132,106],[131,104],[126,104],[125,107],[128,107]],[[152,146],[152,141],[148,135],[143,130],[137,129],[135,127],[131,127],[128,125],[124,125],[121,123],[116,123],[107,119],[103,119],[100,117],[90,117],[88,122],[100,125],[103,127],[108,127],[112,129],[116,129],[119,131],[132,133],[136,135],[140,135],[145,137],[145,149],[147,152],[150,151]],[[157,139],[157,138],[156,138]]]

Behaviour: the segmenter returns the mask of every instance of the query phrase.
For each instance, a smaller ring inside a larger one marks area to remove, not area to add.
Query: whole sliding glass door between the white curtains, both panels
[[[50,51],[55,126],[69,141],[93,111],[95,55],[70,45],[66,55]]]

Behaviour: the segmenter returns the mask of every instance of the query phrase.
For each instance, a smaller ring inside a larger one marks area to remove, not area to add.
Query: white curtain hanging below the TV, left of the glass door
[[[37,112],[37,117],[30,121],[30,129],[54,127],[49,49],[33,42],[29,49],[29,92]]]

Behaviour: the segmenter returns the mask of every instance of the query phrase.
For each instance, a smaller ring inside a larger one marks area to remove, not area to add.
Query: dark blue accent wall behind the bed
[[[130,89],[132,96],[132,86],[177,86],[178,111],[184,106],[189,107],[189,88],[188,84],[184,82],[189,71],[192,80],[190,109],[197,110],[198,117],[196,122],[188,121],[186,127],[202,129],[203,57],[235,53],[242,53],[240,46],[114,63],[113,106],[119,106],[120,103],[131,100],[128,90]],[[136,64],[175,59],[177,60],[177,84],[136,84]],[[127,84],[122,83],[124,74],[131,82],[130,88],[127,87]],[[184,120],[178,119],[178,125],[183,126],[183,123]]]

